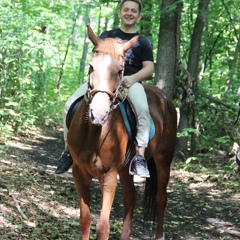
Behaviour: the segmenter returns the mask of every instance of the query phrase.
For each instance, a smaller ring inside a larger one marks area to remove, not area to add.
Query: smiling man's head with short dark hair
[[[135,26],[136,22],[142,17],[138,4],[133,1],[124,2],[122,9],[118,12],[118,16],[122,24],[126,26]]]

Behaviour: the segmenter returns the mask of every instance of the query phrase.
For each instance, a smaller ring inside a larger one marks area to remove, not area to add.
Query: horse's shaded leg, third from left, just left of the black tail
[[[123,206],[124,206],[124,220],[123,229],[120,239],[129,240],[132,231],[133,211],[136,202],[136,190],[133,182],[133,176],[127,172],[120,173],[120,182],[123,189]]]

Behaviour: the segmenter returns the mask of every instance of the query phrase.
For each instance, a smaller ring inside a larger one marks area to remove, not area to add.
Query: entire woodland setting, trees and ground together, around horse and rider
[[[155,74],[180,113],[168,186],[167,239],[240,239],[239,0],[143,0],[138,31],[153,45]],[[88,76],[96,34],[119,26],[118,0],[0,1],[0,238],[78,239],[79,202],[64,148],[63,107]],[[142,228],[136,185],[133,239]],[[93,220],[100,190],[93,181]],[[122,192],[111,213],[119,239]],[[91,228],[95,232],[94,225]],[[145,234],[144,234],[145,233]],[[96,239],[93,236],[91,239]]]

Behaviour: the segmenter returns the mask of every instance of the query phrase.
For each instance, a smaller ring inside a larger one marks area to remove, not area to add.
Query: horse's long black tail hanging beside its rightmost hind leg
[[[144,200],[143,200],[143,220],[144,226],[153,230],[156,221],[156,194],[157,194],[157,169],[154,159],[148,160],[148,170],[150,178],[146,179]]]

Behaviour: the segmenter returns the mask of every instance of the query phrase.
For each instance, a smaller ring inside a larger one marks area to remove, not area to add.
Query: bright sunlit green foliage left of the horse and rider
[[[63,88],[57,89],[75,5],[61,1],[1,2],[0,137],[34,125],[62,123],[63,105],[70,95],[67,92],[73,92],[79,80],[80,49],[73,39],[64,66]]]

